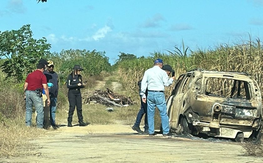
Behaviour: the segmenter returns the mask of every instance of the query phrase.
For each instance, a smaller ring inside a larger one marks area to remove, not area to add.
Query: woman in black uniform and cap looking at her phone
[[[87,126],[89,124],[83,122],[82,116],[82,98],[80,88],[84,88],[86,86],[86,83],[82,83],[82,77],[80,75],[80,71],[82,70],[84,69],[80,65],[75,65],[67,80],[67,87],[69,88],[68,99],[70,103],[68,127],[72,127],[71,123],[75,107],[77,108],[80,126]]]

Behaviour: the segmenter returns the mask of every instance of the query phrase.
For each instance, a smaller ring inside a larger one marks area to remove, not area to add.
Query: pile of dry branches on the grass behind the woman
[[[84,104],[89,104],[91,101],[96,101],[97,103],[106,105],[106,106],[118,106],[123,107],[123,105],[133,105],[135,104],[131,97],[125,97],[123,95],[114,93],[109,88],[106,88],[105,91],[95,90],[94,92],[83,92],[82,93],[82,102]]]

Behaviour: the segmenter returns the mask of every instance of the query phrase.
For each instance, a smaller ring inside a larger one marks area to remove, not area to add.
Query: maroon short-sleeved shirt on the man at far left
[[[47,84],[47,78],[40,70],[36,70],[28,74],[26,81],[28,83],[27,90],[34,91],[38,88],[43,88],[42,84]]]

